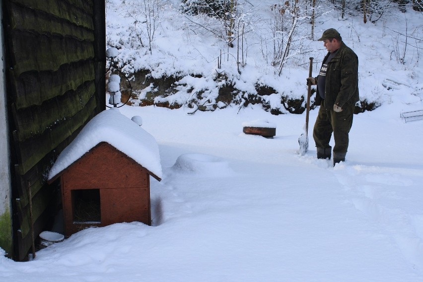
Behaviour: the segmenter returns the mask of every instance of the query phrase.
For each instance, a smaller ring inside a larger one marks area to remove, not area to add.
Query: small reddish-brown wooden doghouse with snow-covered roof
[[[161,166],[154,138],[136,123],[103,111],[62,154],[49,182],[60,177],[66,236],[118,222],[151,225],[149,176],[160,181]]]

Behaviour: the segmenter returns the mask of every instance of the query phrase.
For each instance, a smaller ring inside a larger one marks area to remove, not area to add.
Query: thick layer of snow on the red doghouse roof
[[[61,174],[72,163],[100,142],[107,142],[147,169],[161,180],[162,170],[158,145],[154,137],[143,130],[117,108],[102,111],[90,120],[76,138],[60,153],[49,172],[48,180]]]

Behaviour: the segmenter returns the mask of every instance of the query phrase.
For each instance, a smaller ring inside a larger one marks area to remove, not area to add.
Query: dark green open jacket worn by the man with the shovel
[[[323,62],[329,57],[326,55]],[[323,65],[323,64],[322,64]],[[317,81],[318,77],[316,77]],[[322,98],[317,87],[315,104],[320,105]],[[358,57],[344,42],[328,63],[325,85],[325,106],[332,110],[334,104],[343,108],[359,101],[358,96]]]

